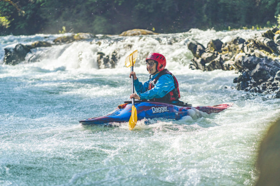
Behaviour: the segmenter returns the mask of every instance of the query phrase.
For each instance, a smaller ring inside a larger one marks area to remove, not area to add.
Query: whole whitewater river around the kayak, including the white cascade
[[[280,116],[280,99],[251,95],[236,86],[233,71],[189,69],[187,42],[230,41],[262,31],[200,31],[105,37],[33,49],[18,65],[3,64],[4,48],[52,42],[61,35],[0,37],[0,186],[252,186],[258,147]],[[125,57],[138,49],[135,72],[149,75],[149,52],[165,55],[179,82],[181,100],[194,106],[234,105],[218,114],[181,121],[139,121],[115,127],[83,126],[105,115],[131,93]],[[97,52],[120,58],[98,69]],[[227,88],[226,88],[227,87]]]

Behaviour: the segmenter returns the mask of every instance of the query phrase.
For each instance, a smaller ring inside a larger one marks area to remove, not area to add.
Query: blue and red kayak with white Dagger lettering
[[[156,102],[156,101],[135,101],[137,109],[138,121],[142,119],[164,118],[180,120],[184,116],[189,116],[193,113],[218,113],[224,109],[232,106],[232,103],[224,103],[215,106],[199,106],[192,107],[192,105],[179,102]],[[108,124],[108,123],[123,123],[128,122],[131,116],[131,101],[126,101],[124,104],[119,105],[111,113],[101,117],[88,118],[81,120],[81,124]]]

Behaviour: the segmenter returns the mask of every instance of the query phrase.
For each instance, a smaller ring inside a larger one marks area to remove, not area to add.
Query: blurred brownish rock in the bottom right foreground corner
[[[257,167],[260,171],[255,186],[279,186],[280,120],[273,123],[260,145]]]

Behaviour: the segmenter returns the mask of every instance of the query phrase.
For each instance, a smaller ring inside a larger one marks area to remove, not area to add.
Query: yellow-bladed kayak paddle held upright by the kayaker
[[[131,54],[129,54],[129,56],[127,56],[125,58],[125,66],[131,67],[131,72],[133,71],[133,66],[136,62],[137,54],[138,54],[138,50],[135,50],[134,52],[132,52]],[[134,93],[134,77],[133,76],[131,76],[131,93]],[[136,123],[137,123],[137,110],[135,107],[134,98],[132,98],[131,116],[130,116],[129,125],[128,125],[129,130],[132,130],[135,127]]]

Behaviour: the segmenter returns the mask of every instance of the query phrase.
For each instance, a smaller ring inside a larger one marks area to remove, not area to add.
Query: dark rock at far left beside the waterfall
[[[30,47],[18,44],[14,49],[4,48],[4,50],[4,64],[16,65],[19,62],[24,61],[26,54],[30,52]]]

